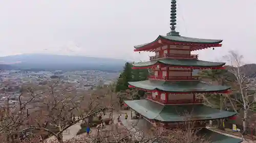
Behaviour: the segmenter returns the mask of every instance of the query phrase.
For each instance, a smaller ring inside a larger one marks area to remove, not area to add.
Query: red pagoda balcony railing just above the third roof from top
[[[149,79],[166,80],[166,81],[182,81],[182,80],[199,80],[199,76],[154,76],[151,75]]]

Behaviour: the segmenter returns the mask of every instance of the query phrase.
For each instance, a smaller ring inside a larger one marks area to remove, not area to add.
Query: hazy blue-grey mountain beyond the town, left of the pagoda
[[[15,63],[13,69],[44,70],[104,70],[121,71],[126,60],[57,54],[19,54],[0,57],[5,63]]]

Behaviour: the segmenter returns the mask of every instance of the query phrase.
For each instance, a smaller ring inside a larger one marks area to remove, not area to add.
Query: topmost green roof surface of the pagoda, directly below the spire
[[[196,43],[196,44],[219,44],[223,41],[223,40],[214,40],[214,39],[190,38],[190,37],[184,37],[184,36],[173,36],[173,35],[162,36],[162,35],[159,35],[155,41],[146,43],[146,44],[142,44],[142,45],[137,45],[137,46],[134,46],[134,48],[135,49],[142,48],[143,46],[152,44],[152,43],[158,41],[159,39],[165,39],[165,40],[169,40],[169,41],[173,41],[173,42],[188,42],[188,43]]]

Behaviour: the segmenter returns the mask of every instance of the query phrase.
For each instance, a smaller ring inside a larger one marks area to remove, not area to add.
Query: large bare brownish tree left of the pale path
[[[99,98],[99,95],[84,95],[72,87],[63,87],[61,83],[54,82],[49,85],[48,91],[37,97],[37,102],[31,104],[32,126],[19,132],[46,132],[63,142],[62,133],[69,127],[106,110]],[[85,103],[88,105],[86,108]]]

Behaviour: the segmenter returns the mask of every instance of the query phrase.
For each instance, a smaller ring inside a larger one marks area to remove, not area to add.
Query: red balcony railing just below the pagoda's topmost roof
[[[163,55],[154,55],[150,56],[150,60],[157,60],[162,58],[171,58],[171,59],[198,59],[198,54],[172,54],[165,53]]]

